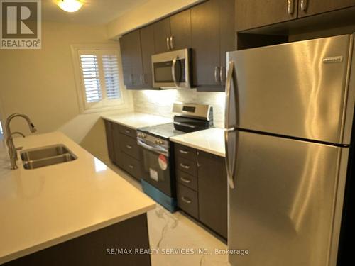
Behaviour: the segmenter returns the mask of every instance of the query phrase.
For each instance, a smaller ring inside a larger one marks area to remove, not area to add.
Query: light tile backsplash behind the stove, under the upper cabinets
[[[190,104],[213,106],[214,126],[224,126],[224,92],[197,92],[196,89],[165,89],[160,91],[133,91],[134,111],[173,118],[173,103],[182,101]]]

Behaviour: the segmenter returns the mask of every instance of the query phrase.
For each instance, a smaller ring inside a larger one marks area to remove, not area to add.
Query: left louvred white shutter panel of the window
[[[102,100],[97,55],[80,55],[82,77],[87,103],[97,103]]]

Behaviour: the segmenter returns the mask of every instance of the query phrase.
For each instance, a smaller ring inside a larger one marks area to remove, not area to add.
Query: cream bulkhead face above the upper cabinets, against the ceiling
[[[107,33],[109,38],[116,38],[201,1],[205,0],[148,0],[108,23]]]

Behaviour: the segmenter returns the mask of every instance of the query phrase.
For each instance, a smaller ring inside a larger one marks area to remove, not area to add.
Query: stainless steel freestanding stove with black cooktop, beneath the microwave
[[[143,147],[143,190],[169,211],[175,211],[175,167],[169,138],[213,126],[212,106],[175,103],[173,123],[138,128],[137,143]]]

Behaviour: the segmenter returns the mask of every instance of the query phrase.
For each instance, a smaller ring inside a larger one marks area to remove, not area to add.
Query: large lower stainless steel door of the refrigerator
[[[229,189],[234,266],[335,266],[349,148],[239,132]]]

